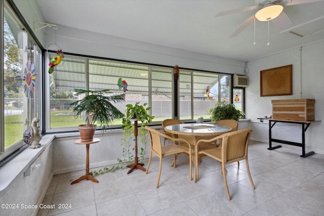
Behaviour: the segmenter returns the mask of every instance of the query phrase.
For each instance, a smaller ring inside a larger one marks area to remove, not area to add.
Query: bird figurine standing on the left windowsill
[[[39,118],[35,117],[31,121],[30,127],[26,129],[23,135],[23,141],[29,145],[29,148],[36,149],[41,147],[39,141],[42,140],[42,135],[39,134],[39,128],[37,127],[37,123],[39,122]]]

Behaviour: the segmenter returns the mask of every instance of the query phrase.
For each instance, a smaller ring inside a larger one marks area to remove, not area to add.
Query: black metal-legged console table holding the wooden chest
[[[281,148],[281,145],[272,147],[271,142],[276,142],[276,143],[282,143],[282,144],[288,144],[288,145],[302,147],[302,155],[300,155],[301,157],[307,157],[307,156],[315,153],[313,151],[305,153],[305,132],[306,132],[308,126],[310,125],[310,123],[319,122],[319,121],[295,121],[295,120],[282,120],[282,119],[272,119],[272,118],[264,118],[264,120],[269,120],[269,148],[268,148],[268,150]],[[301,124],[302,125],[302,143],[295,143],[295,142],[290,142],[290,141],[285,141],[285,140],[272,139],[271,129],[275,125],[276,122]]]

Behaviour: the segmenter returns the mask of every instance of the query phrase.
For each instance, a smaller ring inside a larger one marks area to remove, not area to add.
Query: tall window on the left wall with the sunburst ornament
[[[4,103],[0,109],[4,115],[4,125],[0,126],[0,134],[3,135],[0,142],[1,160],[25,145],[23,132],[32,118],[40,114],[39,89],[42,80],[41,52],[7,6],[4,8],[2,25],[4,64],[1,80],[4,80],[4,88],[0,91]]]

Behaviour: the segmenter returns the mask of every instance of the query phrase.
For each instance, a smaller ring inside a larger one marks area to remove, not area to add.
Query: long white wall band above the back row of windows
[[[46,29],[47,48],[55,42],[53,30]],[[207,71],[244,74],[245,62],[147,44],[135,40],[59,26],[56,43],[63,52],[117,60],[175,66]],[[50,46],[49,50],[56,49]]]

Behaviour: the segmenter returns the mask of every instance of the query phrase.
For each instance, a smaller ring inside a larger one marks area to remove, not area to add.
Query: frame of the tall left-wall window
[[[24,50],[28,52],[23,52],[23,64],[22,64],[22,73],[23,70],[25,68],[26,62],[27,60],[29,60],[29,58],[31,57],[31,59],[33,59],[33,63],[36,67],[36,71],[37,71],[37,77],[36,77],[36,83],[35,83],[35,90],[33,92],[33,96],[32,98],[28,99],[25,97],[25,95],[23,94],[23,122],[21,123],[22,125],[22,129],[23,131],[25,131],[25,129],[27,129],[32,121],[32,118],[34,116],[38,116],[40,119],[42,119],[42,109],[41,109],[41,102],[42,102],[42,47],[39,47],[39,43],[37,43],[34,40],[34,37],[29,33],[30,31],[27,31],[26,29],[30,30],[29,27],[25,28],[24,25],[24,21],[20,20],[19,18],[19,13],[12,8],[11,5],[9,5],[9,3],[7,3],[6,1],[1,1],[1,11],[2,11],[2,15],[1,16],[1,28],[2,28],[2,32],[4,32],[4,24],[5,24],[5,18],[4,18],[4,11],[6,10],[8,12],[8,14],[11,16],[11,18],[15,21],[15,23],[19,26],[19,28],[21,29],[22,32],[22,48],[20,48],[20,50]],[[4,33],[1,34],[1,46],[0,48],[2,48],[2,50],[4,51]],[[29,52],[31,52],[31,50],[33,50],[33,53],[30,54],[30,56],[28,56]],[[39,53],[41,53],[41,55],[39,55]],[[4,52],[2,53],[2,58],[0,60],[1,62],[1,75],[0,75],[0,81],[2,83],[5,83],[5,73],[4,73]],[[20,87],[22,88],[22,87]],[[4,88],[1,88],[0,90],[0,94],[2,94],[3,96],[5,95],[5,91]],[[32,102],[33,101],[33,102]],[[29,107],[33,107],[33,112],[31,112],[29,110]],[[28,147],[27,144],[25,144],[23,142],[23,134],[21,134],[21,140],[19,140],[16,143],[11,144],[9,147],[5,148],[5,115],[4,115],[4,111],[5,111],[5,100],[4,97],[0,102],[0,111],[3,113],[0,116],[0,126],[1,126],[1,130],[0,130],[0,136],[1,136],[1,140],[0,140],[0,166],[2,164],[4,164],[6,161],[10,160],[14,155],[19,154],[22,150],[24,150],[25,148]],[[39,125],[40,127],[40,131],[42,131],[42,126],[41,124]]]

